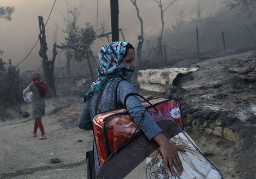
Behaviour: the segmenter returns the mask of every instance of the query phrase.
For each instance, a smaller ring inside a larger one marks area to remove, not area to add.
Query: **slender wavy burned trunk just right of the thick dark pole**
[[[142,45],[144,43],[143,20],[140,16],[140,11],[139,11],[139,8],[136,4],[136,0],[131,0],[131,2],[135,6],[135,9],[137,11],[137,17],[141,22],[141,35],[138,36],[139,43],[138,43],[138,47],[137,47],[137,57],[138,57],[138,62],[140,63],[141,62],[141,50],[142,50]]]

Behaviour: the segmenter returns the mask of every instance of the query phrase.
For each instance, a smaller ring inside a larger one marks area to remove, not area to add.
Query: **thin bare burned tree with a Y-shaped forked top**
[[[160,16],[161,16],[161,22],[162,22],[162,27],[161,27],[161,33],[158,37],[158,47],[159,47],[159,51],[157,51],[157,55],[160,56],[161,54],[161,58],[163,60],[163,51],[162,51],[162,38],[163,38],[163,28],[164,28],[164,21],[163,21],[163,15],[164,12],[173,4],[178,0],[172,0],[171,2],[169,2],[169,4],[166,6],[166,8],[163,8],[163,4],[162,4],[162,0],[154,0],[154,2],[156,2],[158,4],[158,7],[160,8]]]

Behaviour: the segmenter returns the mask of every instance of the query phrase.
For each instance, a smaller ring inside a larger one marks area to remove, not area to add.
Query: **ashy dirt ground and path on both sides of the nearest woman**
[[[171,94],[137,90],[148,99],[179,99],[184,119],[187,114],[209,109],[238,118],[232,122],[237,141],[185,127],[224,179],[256,179],[256,85],[255,81],[240,79],[234,70],[253,61],[243,60],[250,53],[176,61],[168,66],[199,70],[178,76],[173,82],[177,90]],[[71,81],[57,84],[59,97],[46,99],[46,115],[42,118],[46,140],[31,136],[32,117],[24,119],[16,111],[7,111],[13,119],[0,122],[0,179],[86,179],[85,153],[92,149],[93,132],[79,129],[77,122],[82,95],[89,86],[77,87]],[[31,103],[21,107],[22,111],[32,111]]]

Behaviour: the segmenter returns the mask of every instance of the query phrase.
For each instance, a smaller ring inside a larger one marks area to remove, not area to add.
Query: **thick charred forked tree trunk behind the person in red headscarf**
[[[38,35],[40,40],[39,55],[40,57],[42,57],[42,60],[43,60],[44,78],[49,87],[50,96],[56,97],[57,94],[56,94],[54,76],[53,76],[54,62],[57,55],[56,43],[54,43],[53,45],[53,59],[48,60],[48,56],[46,54],[46,51],[48,50],[48,48],[47,48],[46,36],[45,36],[44,19],[42,16],[39,16],[38,20],[39,20],[39,29],[40,29],[40,34]]]

